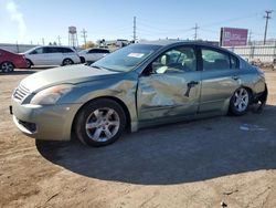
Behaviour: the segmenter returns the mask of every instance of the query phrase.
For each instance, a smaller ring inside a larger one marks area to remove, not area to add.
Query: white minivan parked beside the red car
[[[70,65],[81,63],[77,52],[70,46],[36,46],[23,54],[28,67],[32,65]]]

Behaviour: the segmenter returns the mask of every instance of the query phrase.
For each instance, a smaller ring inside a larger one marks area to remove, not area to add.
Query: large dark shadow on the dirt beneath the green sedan
[[[276,168],[276,106],[261,114],[221,116],[141,129],[113,145],[42,142],[47,160],[103,180],[173,185]]]

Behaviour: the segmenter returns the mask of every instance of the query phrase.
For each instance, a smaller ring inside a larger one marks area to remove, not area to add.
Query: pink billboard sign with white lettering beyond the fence
[[[247,29],[222,28],[221,46],[238,46],[247,43]]]

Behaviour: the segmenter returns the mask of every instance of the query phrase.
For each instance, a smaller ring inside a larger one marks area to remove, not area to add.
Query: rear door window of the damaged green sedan
[[[212,49],[202,49],[203,70],[231,69],[230,55]]]

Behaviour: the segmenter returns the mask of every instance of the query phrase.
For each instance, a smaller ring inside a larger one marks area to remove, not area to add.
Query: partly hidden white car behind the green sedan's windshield
[[[85,62],[95,62],[98,61],[99,59],[106,56],[107,54],[109,54],[110,51],[108,49],[86,49],[83,51],[78,52],[78,55],[81,58],[82,63]]]

